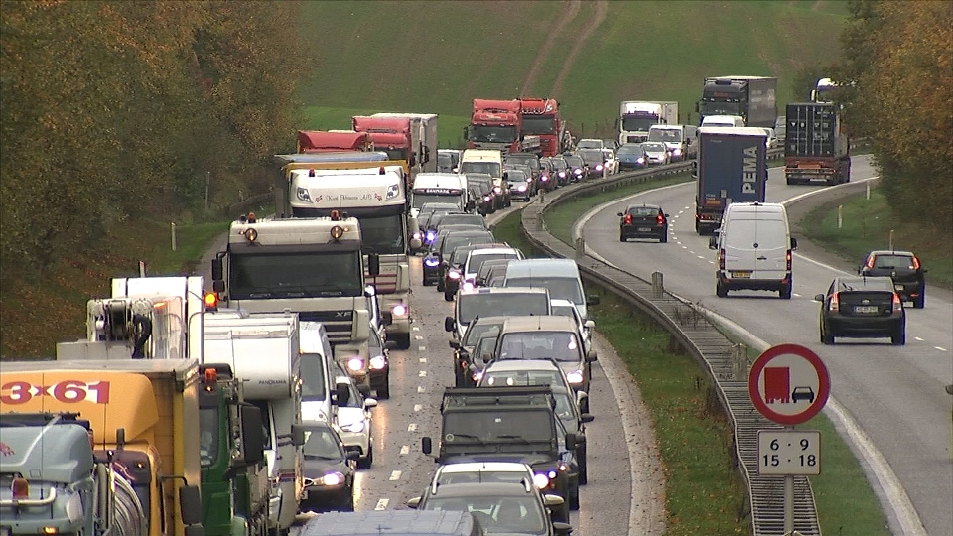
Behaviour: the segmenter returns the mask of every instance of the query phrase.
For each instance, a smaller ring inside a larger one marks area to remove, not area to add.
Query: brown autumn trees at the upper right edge
[[[953,2],[860,0],[836,79],[854,134],[868,137],[894,211],[953,228]]]

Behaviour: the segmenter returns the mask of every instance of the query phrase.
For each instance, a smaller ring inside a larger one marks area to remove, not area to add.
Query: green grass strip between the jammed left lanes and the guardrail
[[[532,252],[519,234],[519,213],[494,229],[498,240]],[[639,383],[665,467],[667,532],[671,535],[749,534],[743,518],[744,483],[731,463],[731,430],[720,412],[705,403],[709,383],[698,363],[668,349],[669,334],[598,288],[590,307],[598,332]]]

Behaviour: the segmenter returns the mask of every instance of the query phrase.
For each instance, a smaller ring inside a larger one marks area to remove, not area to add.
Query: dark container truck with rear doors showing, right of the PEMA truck
[[[830,102],[787,105],[784,127],[784,178],[788,184],[850,182],[850,139],[840,105]]]

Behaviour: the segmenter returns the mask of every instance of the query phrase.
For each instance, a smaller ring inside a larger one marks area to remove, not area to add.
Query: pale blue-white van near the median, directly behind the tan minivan
[[[506,265],[503,286],[548,289],[551,299],[568,299],[575,303],[583,321],[589,320],[586,306],[598,304],[598,296],[586,297],[579,267],[571,258],[511,260]]]

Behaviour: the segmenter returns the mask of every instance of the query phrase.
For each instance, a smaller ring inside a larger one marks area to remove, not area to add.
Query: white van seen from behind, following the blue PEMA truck
[[[745,289],[778,291],[781,298],[791,298],[791,252],[798,249],[798,241],[791,237],[784,205],[728,205],[708,247],[718,251],[718,296]]]

